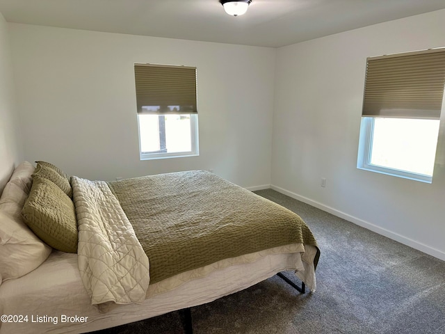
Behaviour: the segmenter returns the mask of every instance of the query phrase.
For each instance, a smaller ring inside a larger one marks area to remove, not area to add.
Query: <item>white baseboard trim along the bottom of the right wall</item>
[[[445,261],[445,253],[442,250],[438,250],[436,248],[432,248],[426,244],[422,244],[418,241],[412,240],[410,238],[404,237],[401,234],[398,234],[396,232],[392,232],[390,230],[387,230],[386,228],[381,228],[378,225],[374,225],[373,223],[369,223],[368,221],[364,221],[360,218],[357,218],[355,216],[351,216],[350,214],[346,214],[345,212],[341,212],[337,209],[334,209],[333,207],[328,207],[327,205],[324,205],[321,202],[317,202],[315,200],[311,200],[310,198],[300,196],[297,193],[293,193],[292,191],[286,190],[281,188],[280,186],[274,186],[273,184],[270,185],[270,189],[273,189],[275,191],[278,191],[279,193],[282,193],[286,196],[289,196],[291,198],[294,198],[296,200],[300,200],[301,202],[304,202],[306,204],[312,205],[313,207],[316,207],[318,209],[321,209],[325,212],[329,212],[330,214],[333,214],[334,216],[346,219],[346,221],[350,221],[351,223],[355,223],[356,225],[362,226],[362,228],[366,228],[367,230],[371,230],[375,233],[381,234],[385,237],[388,237],[389,239],[393,239],[395,241],[400,242],[401,244],[410,246],[416,250],[420,250],[423,253],[426,253],[428,255],[437,257],[440,260]]]

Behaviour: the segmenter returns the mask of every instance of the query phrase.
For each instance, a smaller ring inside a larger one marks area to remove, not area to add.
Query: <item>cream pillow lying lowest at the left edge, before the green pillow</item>
[[[20,219],[0,211],[0,284],[19,278],[47,260],[51,247],[35,236]]]

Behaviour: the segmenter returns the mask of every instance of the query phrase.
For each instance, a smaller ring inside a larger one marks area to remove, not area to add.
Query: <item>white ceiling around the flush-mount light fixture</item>
[[[252,0],[227,15],[218,0],[0,0],[7,22],[282,47],[445,8],[445,0]]]

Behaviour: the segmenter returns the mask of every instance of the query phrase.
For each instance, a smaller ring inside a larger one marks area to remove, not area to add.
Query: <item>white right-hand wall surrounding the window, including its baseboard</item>
[[[445,47],[444,31],[439,10],[278,49],[274,188],[445,260],[444,121],[432,184],[356,168],[366,57]]]

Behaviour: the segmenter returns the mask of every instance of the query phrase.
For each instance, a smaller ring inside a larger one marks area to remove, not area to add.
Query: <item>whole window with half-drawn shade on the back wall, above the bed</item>
[[[199,154],[196,68],[135,64],[140,159]]]

